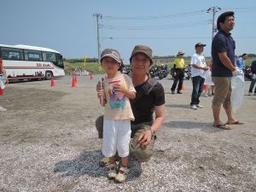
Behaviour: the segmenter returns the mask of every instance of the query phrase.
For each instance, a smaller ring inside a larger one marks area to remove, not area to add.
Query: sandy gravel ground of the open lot
[[[191,82],[183,95],[166,91],[166,120],[154,156],[139,164],[131,156],[126,183],[114,183],[98,166],[102,141],[95,119],[103,113],[96,81],[72,77],[9,84],[0,96],[0,191],[256,191],[256,96],[244,96],[237,119],[223,131],[212,127],[212,97],[189,108]],[[246,82],[247,94],[249,82]],[[221,116],[226,121],[224,111]]]

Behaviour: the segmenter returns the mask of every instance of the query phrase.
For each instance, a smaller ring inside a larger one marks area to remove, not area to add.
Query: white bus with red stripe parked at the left
[[[0,57],[9,80],[48,80],[65,75],[62,55],[54,49],[0,44]]]

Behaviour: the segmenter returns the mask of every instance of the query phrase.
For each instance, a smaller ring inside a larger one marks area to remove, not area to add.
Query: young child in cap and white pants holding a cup
[[[122,60],[116,49],[104,49],[101,64],[107,73],[107,78],[102,82],[102,90],[98,91],[98,97],[105,107],[102,154],[110,161],[108,178],[124,182],[129,172],[131,120],[134,120],[129,99],[135,98],[136,90],[131,78],[118,72]],[[119,166],[115,163],[116,151],[121,157]]]

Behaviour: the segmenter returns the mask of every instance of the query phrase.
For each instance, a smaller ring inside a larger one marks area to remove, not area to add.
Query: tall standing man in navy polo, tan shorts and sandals
[[[218,16],[218,33],[212,39],[212,82],[215,86],[212,100],[213,126],[224,130],[230,130],[230,125],[241,125],[232,113],[231,77],[241,75],[242,71],[236,67],[235,49],[236,44],[231,37],[230,31],[235,26],[233,11],[224,12]],[[220,108],[223,105],[227,115],[227,123],[220,119]]]

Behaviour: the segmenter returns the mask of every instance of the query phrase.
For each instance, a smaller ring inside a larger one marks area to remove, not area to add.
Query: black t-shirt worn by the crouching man
[[[145,84],[145,83],[144,83]],[[135,87],[135,90],[143,89],[143,84]],[[148,95],[143,95],[140,98],[131,101],[131,109],[135,117],[131,121],[132,125],[137,125],[144,122],[153,122],[154,107],[165,104],[165,91],[162,84],[157,83]]]

